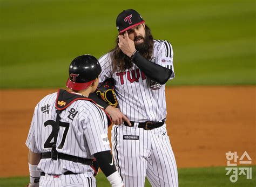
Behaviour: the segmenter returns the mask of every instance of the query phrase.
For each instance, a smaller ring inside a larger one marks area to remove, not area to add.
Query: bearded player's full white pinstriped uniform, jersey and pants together
[[[173,51],[166,40],[154,40],[153,63],[172,70]],[[166,118],[165,85],[150,80],[133,64],[124,72],[112,72],[111,53],[99,59],[100,81],[112,77],[120,111],[133,127],[113,125],[112,151],[116,167],[125,186],[144,186],[147,177],[152,186],[178,186],[178,171],[166,124],[151,130],[139,128],[139,122],[161,121]]]

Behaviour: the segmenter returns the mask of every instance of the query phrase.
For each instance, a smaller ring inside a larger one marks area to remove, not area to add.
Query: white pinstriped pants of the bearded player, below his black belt
[[[137,125],[112,127],[112,153],[125,186],[144,186],[145,177],[152,186],[178,186],[177,165],[166,124],[152,130]]]

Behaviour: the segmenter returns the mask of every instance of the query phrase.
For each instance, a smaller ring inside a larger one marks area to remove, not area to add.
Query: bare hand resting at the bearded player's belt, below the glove
[[[120,112],[119,108],[114,108],[112,106],[106,107],[106,112],[109,113],[111,116],[113,124],[122,124],[123,121],[126,121],[129,126],[131,126],[131,122],[129,119],[122,113]]]

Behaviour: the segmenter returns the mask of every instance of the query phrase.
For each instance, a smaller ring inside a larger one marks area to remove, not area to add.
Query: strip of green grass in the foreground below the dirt
[[[248,167],[248,166],[247,166]],[[239,186],[254,187],[256,185],[256,166],[252,167],[252,179],[246,179],[246,176],[238,176],[238,181],[231,183],[229,181],[229,176],[226,176],[225,167],[211,167],[211,168],[187,168],[179,169],[179,186],[197,186],[197,187],[219,187],[219,186]],[[29,177],[11,177],[11,178],[0,178],[0,187],[18,187],[25,186],[28,183]],[[108,187],[109,182],[106,180],[102,173],[97,175],[97,185]],[[146,181],[145,186],[151,186],[148,181]]]

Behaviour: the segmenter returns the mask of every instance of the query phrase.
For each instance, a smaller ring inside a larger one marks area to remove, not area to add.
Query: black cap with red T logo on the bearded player
[[[119,33],[125,32],[134,26],[143,24],[145,21],[142,16],[133,9],[127,9],[119,13],[116,20],[117,30]]]

